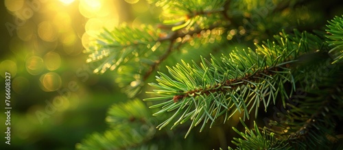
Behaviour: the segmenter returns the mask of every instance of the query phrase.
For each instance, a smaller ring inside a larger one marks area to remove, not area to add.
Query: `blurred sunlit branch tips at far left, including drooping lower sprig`
[[[116,81],[129,97],[134,97],[143,86],[142,74],[164,53],[165,43],[158,41],[162,32],[151,25],[128,27],[123,24],[104,30],[97,43],[86,49],[91,53],[86,62],[102,62],[94,73],[104,73],[108,68],[115,71]]]

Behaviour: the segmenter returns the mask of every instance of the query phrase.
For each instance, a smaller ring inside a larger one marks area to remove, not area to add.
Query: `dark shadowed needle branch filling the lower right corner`
[[[281,127],[279,136],[294,149],[332,149],[338,142],[336,134],[340,133],[334,132],[335,126],[338,118],[343,118],[343,72],[338,68],[333,67],[335,72],[322,77],[320,90],[307,92],[307,97],[298,99],[298,105],[289,104],[290,110],[284,114],[285,120],[272,123]]]

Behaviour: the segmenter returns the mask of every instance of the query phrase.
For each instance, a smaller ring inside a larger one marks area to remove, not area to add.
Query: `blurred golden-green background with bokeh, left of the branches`
[[[1,85],[11,74],[11,145],[0,149],[75,149],[106,129],[114,102],[126,101],[110,73],[94,75],[84,47],[103,27],[158,19],[146,1],[5,0],[0,3]],[[5,88],[0,88],[4,97]],[[5,99],[0,131],[5,132]],[[1,134],[5,137],[5,134]]]

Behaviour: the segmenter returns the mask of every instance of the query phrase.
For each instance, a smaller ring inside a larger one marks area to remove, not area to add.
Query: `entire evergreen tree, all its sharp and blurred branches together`
[[[207,149],[194,139],[220,124],[235,149],[343,149],[343,16],[292,29],[305,2],[150,0],[162,23],[105,29],[87,62],[131,100],[77,149]]]

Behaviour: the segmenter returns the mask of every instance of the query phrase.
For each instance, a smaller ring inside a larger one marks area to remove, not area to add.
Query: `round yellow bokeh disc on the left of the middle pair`
[[[31,75],[38,75],[44,70],[43,59],[38,56],[32,56],[26,61],[26,70]]]

